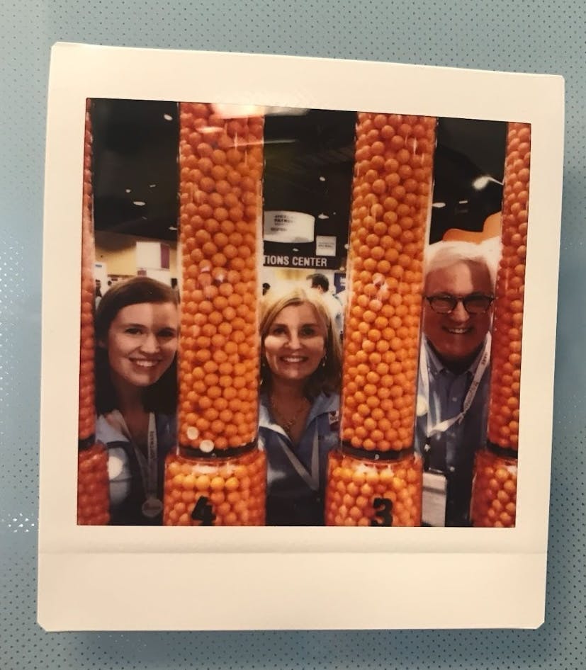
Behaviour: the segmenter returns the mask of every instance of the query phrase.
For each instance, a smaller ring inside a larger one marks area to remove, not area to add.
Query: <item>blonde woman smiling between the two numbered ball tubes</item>
[[[312,290],[261,305],[259,433],[268,461],[268,526],[322,526],[327,455],[338,444],[342,354]]]

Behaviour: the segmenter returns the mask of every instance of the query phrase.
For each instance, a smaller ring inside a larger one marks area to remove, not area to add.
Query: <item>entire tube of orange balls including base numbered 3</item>
[[[359,113],[344,334],[342,450],[328,526],[420,526],[413,451],[422,264],[436,118]]]

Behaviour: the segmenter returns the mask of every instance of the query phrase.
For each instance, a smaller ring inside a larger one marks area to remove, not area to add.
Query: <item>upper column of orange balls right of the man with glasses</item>
[[[529,205],[531,127],[509,123],[502,203],[502,259],[495,288],[488,439],[519,446],[521,342]]]

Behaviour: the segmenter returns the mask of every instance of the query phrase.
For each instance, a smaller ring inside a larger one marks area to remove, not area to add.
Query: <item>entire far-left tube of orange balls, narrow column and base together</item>
[[[103,525],[110,520],[108,454],[96,443],[94,382],[94,202],[91,186],[91,101],[86,103],[84,188],[81,209],[81,310],[79,328],[79,430],[77,523]]]

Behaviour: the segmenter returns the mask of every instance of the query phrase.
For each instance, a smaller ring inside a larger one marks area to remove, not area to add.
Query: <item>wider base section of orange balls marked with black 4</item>
[[[264,526],[265,496],[264,451],[222,460],[167,456],[164,526]]]

